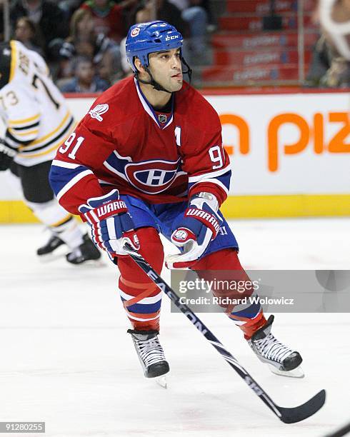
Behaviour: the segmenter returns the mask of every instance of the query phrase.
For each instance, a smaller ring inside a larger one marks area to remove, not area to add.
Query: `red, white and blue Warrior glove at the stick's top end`
[[[124,238],[136,250],[139,249],[134,223],[125,202],[119,198],[118,190],[88,199],[86,204],[79,206],[79,212],[81,218],[91,226],[92,241],[97,247],[107,251],[111,258],[127,255],[123,250]]]

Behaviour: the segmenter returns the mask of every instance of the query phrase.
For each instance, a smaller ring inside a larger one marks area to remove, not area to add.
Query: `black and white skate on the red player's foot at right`
[[[273,321],[274,316],[270,316],[265,325],[248,340],[249,346],[260,361],[269,364],[273,373],[302,378],[304,372],[299,368],[301,361],[303,361],[300,353],[285,346],[271,334]]]

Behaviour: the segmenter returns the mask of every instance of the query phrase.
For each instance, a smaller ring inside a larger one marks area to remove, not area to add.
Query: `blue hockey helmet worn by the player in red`
[[[134,57],[137,56],[142,66],[149,66],[149,54],[155,51],[179,49],[184,38],[179,31],[166,21],[149,21],[131,26],[126,36],[126,57],[131,69],[136,72]]]

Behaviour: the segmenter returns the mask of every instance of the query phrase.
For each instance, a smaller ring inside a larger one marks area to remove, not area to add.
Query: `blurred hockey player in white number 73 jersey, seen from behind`
[[[64,97],[48,75],[44,59],[19,41],[0,44],[0,115],[6,126],[0,143],[0,171],[50,230],[39,256],[66,243],[67,261],[79,264],[101,254],[76,220],[54,199],[49,169],[57,147],[74,128]]]

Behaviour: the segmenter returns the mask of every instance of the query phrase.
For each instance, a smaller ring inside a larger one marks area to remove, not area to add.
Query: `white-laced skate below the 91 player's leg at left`
[[[159,331],[136,331],[129,329],[134,341],[136,353],[139,356],[141,366],[146,378],[157,378],[162,387],[166,387],[164,378],[159,378],[169,372],[169,364],[165,359],[163,348],[159,343]]]

